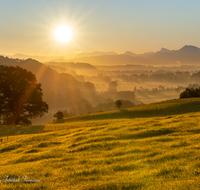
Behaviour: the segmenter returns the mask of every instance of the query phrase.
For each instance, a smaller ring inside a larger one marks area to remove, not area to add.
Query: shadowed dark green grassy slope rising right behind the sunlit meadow
[[[100,112],[77,117],[66,118],[59,122],[74,122],[102,119],[119,119],[119,118],[147,118],[155,116],[170,116],[200,111],[200,98],[168,100],[153,104],[147,104],[130,109]],[[55,123],[59,123],[55,122]]]

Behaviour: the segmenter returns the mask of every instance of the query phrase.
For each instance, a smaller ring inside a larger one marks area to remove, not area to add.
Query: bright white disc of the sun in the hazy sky
[[[55,38],[61,42],[69,42],[72,38],[72,29],[67,25],[60,25],[54,30]]]

